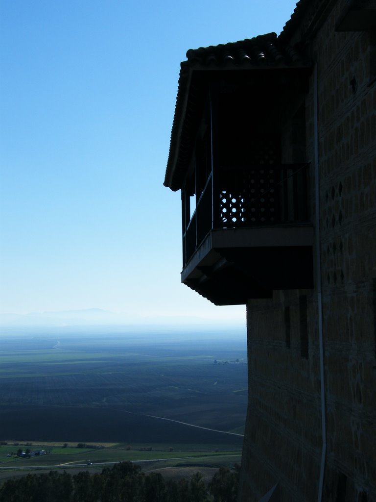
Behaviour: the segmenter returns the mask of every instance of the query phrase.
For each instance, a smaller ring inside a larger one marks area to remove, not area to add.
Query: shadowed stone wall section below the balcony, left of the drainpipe
[[[307,297],[307,311],[302,296]],[[277,292],[273,300],[252,301],[247,307],[249,408],[243,500],[258,500],[277,481],[282,500],[310,500],[317,491],[321,416],[315,307],[312,291]],[[308,357],[301,355],[305,315]]]

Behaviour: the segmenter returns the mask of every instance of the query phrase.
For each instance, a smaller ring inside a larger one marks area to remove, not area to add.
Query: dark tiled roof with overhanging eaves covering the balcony
[[[164,185],[181,188],[194,147],[198,121],[204,105],[204,90],[213,72],[260,71],[308,68],[311,60],[301,45],[281,43],[275,33],[255,38],[190,49],[180,64],[180,74]]]

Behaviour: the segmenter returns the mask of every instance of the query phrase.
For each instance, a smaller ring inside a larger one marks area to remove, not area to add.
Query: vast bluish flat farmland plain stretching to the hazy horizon
[[[234,444],[245,336],[0,335],[0,440]]]

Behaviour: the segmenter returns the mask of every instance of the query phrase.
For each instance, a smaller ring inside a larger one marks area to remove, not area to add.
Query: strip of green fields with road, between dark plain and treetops
[[[0,446],[0,486],[10,478],[27,474],[59,471],[76,474],[82,470],[90,473],[101,472],[104,467],[114,463],[132,461],[138,463],[147,472],[155,471],[168,479],[181,477],[191,478],[195,472],[200,472],[206,482],[209,482],[220,466],[233,467],[241,462],[241,451],[238,445],[226,445],[219,450],[215,445],[201,444],[193,448],[192,444],[178,444],[178,449],[168,449],[161,444],[127,445],[106,444],[102,448],[77,448],[73,445],[47,443],[18,443]],[[46,454],[39,456],[18,457],[16,452],[23,450],[45,450]],[[151,449],[150,449],[151,448]],[[148,451],[145,451],[147,449]],[[11,455],[11,456],[9,456]]]

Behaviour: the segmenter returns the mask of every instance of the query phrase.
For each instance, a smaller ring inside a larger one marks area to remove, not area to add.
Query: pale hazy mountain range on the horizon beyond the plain
[[[245,317],[245,313],[244,313]],[[65,326],[241,326],[234,320],[197,316],[140,316],[102,309],[62,310],[58,312],[30,312],[28,314],[0,314],[3,327],[65,327]],[[245,320],[244,320],[245,324]]]

